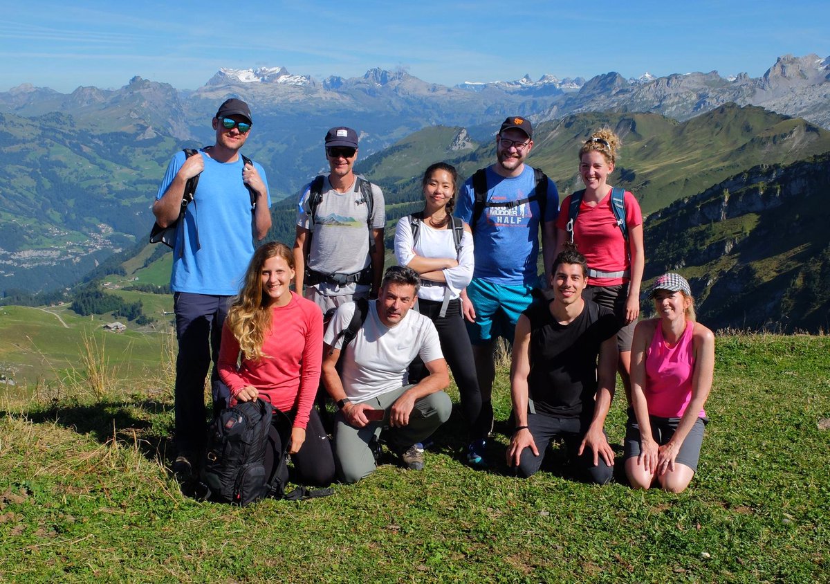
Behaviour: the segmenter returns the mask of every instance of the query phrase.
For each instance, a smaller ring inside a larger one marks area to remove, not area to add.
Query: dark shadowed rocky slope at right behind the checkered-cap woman
[[[715,328],[830,328],[830,155],[761,165],[652,213],[647,280],[690,277]]]

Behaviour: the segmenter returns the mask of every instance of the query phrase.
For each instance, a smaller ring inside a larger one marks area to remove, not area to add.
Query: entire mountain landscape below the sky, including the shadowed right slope
[[[253,112],[246,154],[275,200],[269,239],[293,241],[294,195],[327,169],[334,125],[359,131],[356,169],[383,188],[388,239],[420,204],[428,164],[446,160],[463,178],[491,164],[505,116],[533,120],[529,162],[563,198],[581,188],[579,145],[610,127],[623,140],[610,182],[647,215],[647,282],[683,272],[713,328],[830,328],[830,57],[817,55],[780,56],[757,78],[609,72],[442,86],[403,69],[316,80],[260,67],[223,68],[193,91],[137,76],[68,94],[17,86],[0,92],[2,302],[98,313],[90,299],[110,295],[120,308],[100,312],[166,326],[169,295],[153,292],[165,292],[170,254],[147,243],[149,206],[176,150],[212,144],[210,119],[231,96]]]

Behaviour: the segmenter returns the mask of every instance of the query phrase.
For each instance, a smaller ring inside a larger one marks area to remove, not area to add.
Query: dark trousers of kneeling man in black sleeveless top
[[[590,420],[579,420],[579,418],[554,418],[545,414],[528,414],[527,425],[530,434],[533,434],[533,441],[539,456],[535,456],[529,448],[522,450],[519,460],[519,474],[530,477],[535,474],[542,465],[544,453],[548,449],[550,440],[554,438],[564,439],[569,454],[574,458],[574,464],[584,480],[588,483],[605,484],[611,480],[614,472],[613,466],[605,464],[603,457],[598,458],[597,466],[593,465],[593,450],[586,448],[582,456],[577,456],[579,444],[585,437]]]

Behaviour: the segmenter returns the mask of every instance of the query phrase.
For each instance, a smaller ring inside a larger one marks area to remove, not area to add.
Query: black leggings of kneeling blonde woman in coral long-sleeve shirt
[[[277,420],[276,414],[274,420]],[[291,430],[289,430],[290,432]],[[291,439],[291,434],[281,436],[275,424],[268,429],[268,448],[265,449],[265,475],[269,478],[275,471],[275,461],[282,452],[285,440]],[[334,480],[334,453],[331,441],[320,422],[320,415],[312,408],[309,423],[305,427],[305,442],[300,452],[291,454],[294,463],[295,482],[312,487],[325,487]],[[288,477],[283,477],[287,480]]]

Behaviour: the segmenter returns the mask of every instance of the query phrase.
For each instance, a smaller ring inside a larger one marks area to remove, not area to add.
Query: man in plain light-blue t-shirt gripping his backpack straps
[[[176,153],[153,203],[159,226],[174,223],[185,184],[199,175],[193,201],[178,222],[170,276],[178,339],[178,456],[173,471],[181,478],[193,472],[192,464],[204,444],[204,382],[211,360],[214,412],[227,405],[228,396],[221,395],[223,386],[216,367],[222,323],[254,253],[253,239],[264,238],[271,228],[271,196],[265,170],[256,163],[244,164],[239,154],[250,135],[251,109],[242,100],[229,99],[217,110],[212,125],[216,143],[189,158],[184,152]],[[255,200],[253,209],[251,195]]]

